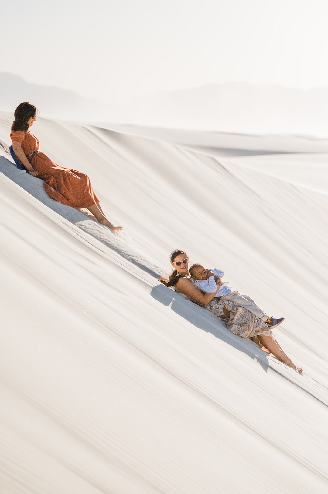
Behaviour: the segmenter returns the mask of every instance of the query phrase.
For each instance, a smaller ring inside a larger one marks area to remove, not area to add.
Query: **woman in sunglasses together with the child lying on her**
[[[250,297],[224,285],[223,271],[205,269],[201,264],[193,264],[188,269],[188,261],[184,250],[173,250],[170,262],[174,270],[168,280],[162,278],[160,282],[167,287],[174,287],[175,291],[192,302],[213,312],[226,322],[230,332],[241,338],[252,339],[262,350],[272,353],[295,371],[303,372],[303,369],[292,363],[272,332],[284,318],[267,316]]]

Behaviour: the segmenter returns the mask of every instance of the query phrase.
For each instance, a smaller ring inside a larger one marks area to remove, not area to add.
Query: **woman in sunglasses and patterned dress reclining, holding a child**
[[[178,293],[182,293],[191,301],[223,319],[232,333],[241,338],[252,339],[267,353],[272,353],[278,360],[292,367],[295,371],[303,372],[303,369],[296,367],[282,350],[271,329],[264,321],[236,302],[216,297],[222,280],[218,279],[218,288],[213,293],[203,293],[200,288],[196,287],[189,278],[188,261],[188,255],[184,250],[173,250],[170,254],[170,262],[175,269],[169,280],[162,278],[160,282],[167,287],[174,287]]]

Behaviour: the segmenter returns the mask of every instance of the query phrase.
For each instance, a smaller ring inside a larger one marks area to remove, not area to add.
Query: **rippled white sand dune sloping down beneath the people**
[[[201,135],[40,119],[116,236],[12,164],[9,128],[1,114],[1,494],[327,493],[327,151],[218,158],[190,149]],[[174,248],[283,315],[304,374],[159,285]]]

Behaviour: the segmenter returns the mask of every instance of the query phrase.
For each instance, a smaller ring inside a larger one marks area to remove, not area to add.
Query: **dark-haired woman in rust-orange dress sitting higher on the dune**
[[[104,215],[87,175],[59,166],[39,151],[39,141],[29,130],[36,121],[37,111],[28,102],[21,103],[15,110],[10,137],[17,158],[30,175],[44,181],[44,189],[51,199],[75,209],[87,208],[99,223],[111,230],[122,230]]]

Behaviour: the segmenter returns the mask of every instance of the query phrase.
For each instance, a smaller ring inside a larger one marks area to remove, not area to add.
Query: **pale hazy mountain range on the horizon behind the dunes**
[[[309,90],[244,82],[159,92],[115,105],[0,73],[0,110],[32,101],[45,118],[248,133],[328,137],[328,87]]]

